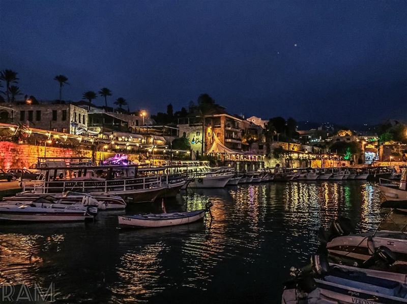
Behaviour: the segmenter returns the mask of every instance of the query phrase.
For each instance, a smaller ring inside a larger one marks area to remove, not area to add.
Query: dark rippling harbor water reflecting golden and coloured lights
[[[290,266],[317,250],[319,227],[341,215],[368,231],[384,214],[379,188],[366,181],[189,189],[166,209],[209,200],[212,220],[168,228],[117,228],[118,215],[158,213],[161,202],[85,224],[2,225],[0,283],[52,282],[61,303],[277,303]]]

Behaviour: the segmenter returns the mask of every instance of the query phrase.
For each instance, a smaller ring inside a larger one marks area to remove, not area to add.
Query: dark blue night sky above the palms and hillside
[[[407,120],[406,1],[0,5],[0,68],[37,98],[57,98],[64,74],[66,99],[107,86],[132,110],[207,92],[246,116]]]

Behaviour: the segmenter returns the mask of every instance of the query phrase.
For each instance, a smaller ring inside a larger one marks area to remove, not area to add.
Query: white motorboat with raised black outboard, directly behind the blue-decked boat
[[[332,221],[329,230],[320,230],[319,240],[326,243],[330,255],[338,259],[363,262],[369,259],[380,246],[391,248],[397,256],[397,264],[407,264],[407,201],[388,200],[382,208],[391,208],[376,230],[352,234],[353,226],[349,219],[338,218]]]

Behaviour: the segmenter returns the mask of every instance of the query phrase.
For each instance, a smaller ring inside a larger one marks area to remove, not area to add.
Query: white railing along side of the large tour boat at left
[[[61,193],[66,191],[80,192],[109,192],[142,190],[159,187],[164,184],[161,176],[142,177],[135,179],[115,179],[115,180],[58,180],[48,182],[30,182],[22,184],[23,191],[40,193]]]

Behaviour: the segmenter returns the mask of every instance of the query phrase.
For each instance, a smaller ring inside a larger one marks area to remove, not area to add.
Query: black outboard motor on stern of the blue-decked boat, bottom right
[[[290,276],[296,282],[297,289],[300,293],[310,293],[316,288],[314,278],[324,276],[329,271],[328,259],[324,255],[314,254],[308,265],[297,269],[290,268]]]

